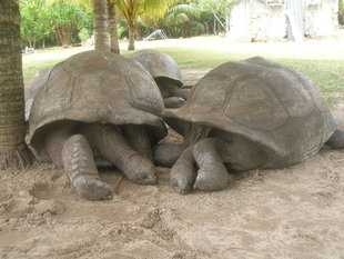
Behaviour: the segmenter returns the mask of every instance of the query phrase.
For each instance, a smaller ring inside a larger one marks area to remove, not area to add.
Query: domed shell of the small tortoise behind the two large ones
[[[154,79],[165,78],[179,87],[183,86],[178,63],[169,54],[158,50],[140,50],[130,58],[140,62]]]

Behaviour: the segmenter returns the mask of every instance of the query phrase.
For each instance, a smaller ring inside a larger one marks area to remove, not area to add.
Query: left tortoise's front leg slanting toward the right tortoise
[[[119,168],[129,180],[140,185],[155,185],[153,163],[133,150],[120,132],[105,124],[91,124],[84,133],[101,156]]]

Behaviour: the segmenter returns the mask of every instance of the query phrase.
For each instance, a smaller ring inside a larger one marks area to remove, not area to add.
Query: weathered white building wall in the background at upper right
[[[297,4],[300,1],[303,1],[302,4]],[[287,33],[285,11],[287,8],[294,9],[295,4],[297,10],[294,10],[294,19],[301,34],[334,34],[338,0],[242,0],[230,10],[227,38],[243,41],[281,40]]]

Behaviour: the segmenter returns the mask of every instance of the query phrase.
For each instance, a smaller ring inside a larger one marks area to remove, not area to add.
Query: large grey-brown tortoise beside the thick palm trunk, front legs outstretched
[[[131,59],[101,51],[75,54],[45,72],[29,118],[40,161],[63,166],[89,200],[113,193],[93,153],[142,185],[156,183],[151,146],[166,135],[163,100],[152,77]]]

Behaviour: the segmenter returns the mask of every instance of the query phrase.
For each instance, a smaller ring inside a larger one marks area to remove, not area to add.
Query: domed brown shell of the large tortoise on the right
[[[165,113],[181,133],[182,121],[241,135],[266,148],[265,168],[299,163],[315,155],[337,127],[311,80],[263,58],[227,62],[191,90],[186,103]]]

